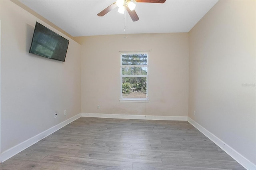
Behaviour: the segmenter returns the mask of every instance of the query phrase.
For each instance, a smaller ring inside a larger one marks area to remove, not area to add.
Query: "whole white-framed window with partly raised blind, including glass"
[[[121,100],[148,102],[148,53],[121,53]]]

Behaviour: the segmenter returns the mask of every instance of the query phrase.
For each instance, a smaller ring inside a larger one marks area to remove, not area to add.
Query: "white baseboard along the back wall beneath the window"
[[[102,113],[82,113],[82,117],[164,120],[164,121],[187,121],[188,120],[187,116],[118,115],[118,114],[102,114]]]

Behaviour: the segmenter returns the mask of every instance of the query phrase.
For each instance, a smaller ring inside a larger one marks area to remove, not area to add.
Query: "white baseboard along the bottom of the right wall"
[[[210,140],[212,140],[212,142],[218,145],[222,150],[229,154],[239,164],[244,166],[244,168],[246,168],[247,170],[256,170],[256,165],[254,165],[252,162],[250,162],[248,159],[246,159],[244,156],[242,156],[228,144],[220,140],[220,138],[218,138],[217,136],[206,130],[204,127],[199,125],[196,121],[188,117],[188,122],[195,128],[197,128],[200,132],[202,132],[205,136],[207,136]]]

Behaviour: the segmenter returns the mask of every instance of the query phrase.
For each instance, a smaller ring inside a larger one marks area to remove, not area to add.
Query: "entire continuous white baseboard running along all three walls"
[[[101,113],[79,113],[78,115],[59,123],[58,125],[37,134],[36,136],[4,151],[0,155],[0,162],[4,162],[8,160],[12,156],[18,154],[22,150],[28,148],[29,146],[35,144],[36,142],[42,140],[46,136],[52,134],[53,132],[59,130],[60,128],[68,125],[69,123],[75,121],[80,117],[98,117],[98,118],[113,118],[113,119],[142,119],[142,120],[166,120],[166,121],[188,121],[196,127],[200,132],[202,132],[205,136],[207,136],[210,140],[212,140],[215,144],[217,144],[222,150],[224,150],[227,154],[229,154],[234,160],[240,163],[247,170],[256,170],[256,165],[238,153],[236,150],[231,148],[228,144],[220,140],[217,136],[206,130],[204,127],[196,123],[190,117],[186,116],[150,116],[150,115],[119,115],[119,114],[101,114]]]

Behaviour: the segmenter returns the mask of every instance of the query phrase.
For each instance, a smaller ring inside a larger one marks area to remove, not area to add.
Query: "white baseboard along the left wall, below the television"
[[[50,134],[52,134],[53,132],[59,130],[60,128],[68,125],[69,123],[75,121],[76,119],[81,117],[81,113],[79,113],[78,115],[71,117],[70,119],[59,123],[58,125],[51,127],[47,130],[45,130],[44,132],[41,132],[40,134],[37,134],[36,136],[33,136],[32,138],[25,140],[24,142],[17,144],[16,146],[5,150],[4,152],[2,152],[1,154],[1,162],[4,162],[6,160],[8,160],[9,158],[11,158],[12,156],[18,154],[19,152],[21,152],[22,150],[28,148],[29,146],[35,144],[36,142],[42,140],[43,138],[45,138],[46,136],[49,136]]]

